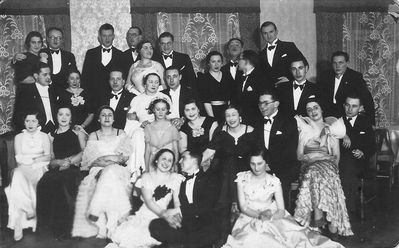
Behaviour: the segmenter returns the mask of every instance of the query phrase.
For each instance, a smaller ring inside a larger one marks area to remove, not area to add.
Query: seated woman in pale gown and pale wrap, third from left
[[[79,186],[72,228],[74,237],[109,237],[131,210],[130,171],[125,167],[130,140],[125,132],[112,127],[114,110],[98,111],[100,129],[89,135],[83,152],[82,170],[89,170]]]

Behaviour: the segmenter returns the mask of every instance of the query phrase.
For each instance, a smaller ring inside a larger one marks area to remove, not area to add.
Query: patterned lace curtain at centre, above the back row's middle
[[[240,37],[238,13],[158,13],[158,35],[175,36],[174,48],[190,56],[195,72],[205,68],[205,56],[212,50],[224,53],[226,42]]]

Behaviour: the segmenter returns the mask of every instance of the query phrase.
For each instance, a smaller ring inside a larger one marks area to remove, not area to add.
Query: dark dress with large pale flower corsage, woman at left
[[[67,90],[60,92],[58,99],[60,106],[69,106],[72,111],[72,123],[74,125],[81,125],[87,118],[87,115],[94,113],[94,109],[88,102],[88,96],[86,91],[80,92],[79,95]]]

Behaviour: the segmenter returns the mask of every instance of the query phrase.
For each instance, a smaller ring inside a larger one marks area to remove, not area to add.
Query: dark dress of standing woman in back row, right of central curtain
[[[212,101],[224,101],[225,105],[212,105],[213,115],[219,125],[225,121],[224,111],[227,108],[227,102],[230,101],[231,91],[234,89],[232,77],[222,74],[222,79],[217,81],[209,72],[198,77],[199,89],[202,101],[211,103]]]

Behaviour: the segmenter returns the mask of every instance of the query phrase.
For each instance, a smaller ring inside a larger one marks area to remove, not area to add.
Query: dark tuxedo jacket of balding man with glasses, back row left
[[[57,90],[68,88],[68,73],[70,70],[76,70],[76,60],[73,53],[60,49],[61,52],[61,70],[57,74],[53,74],[53,58],[51,57],[50,48],[44,48],[40,52],[47,54],[47,63],[51,69],[52,84]]]

